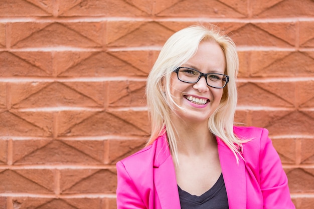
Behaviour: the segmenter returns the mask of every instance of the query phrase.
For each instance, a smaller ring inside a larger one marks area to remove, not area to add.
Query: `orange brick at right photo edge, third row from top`
[[[251,52],[252,76],[294,77],[314,73],[314,58],[304,52]]]

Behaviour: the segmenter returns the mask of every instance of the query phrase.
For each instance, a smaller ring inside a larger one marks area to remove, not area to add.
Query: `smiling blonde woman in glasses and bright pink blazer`
[[[295,208],[268,131],[234,127],[238,57],[229,37],[192,26],[147,79],[151,136],[117,163],[120,208]]]

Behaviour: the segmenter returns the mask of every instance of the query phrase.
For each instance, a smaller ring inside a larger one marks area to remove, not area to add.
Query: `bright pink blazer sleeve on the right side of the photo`
[[[290,197],[288,179],[282,168],[279,155],[263,129],[260,140],[260,188],[265,209],[294,209]]]

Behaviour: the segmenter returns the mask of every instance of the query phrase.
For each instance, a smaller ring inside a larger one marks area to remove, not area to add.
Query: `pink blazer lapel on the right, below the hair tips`
[[[219,160],[224,177],[230,209],[245,208],[247,201],[245,163],[239,164],[233,152],[217,137]]]

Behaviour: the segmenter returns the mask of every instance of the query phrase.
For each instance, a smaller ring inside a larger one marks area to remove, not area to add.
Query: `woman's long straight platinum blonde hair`
[[[170,78],[172,72],[186,63],[198,50],[202,41],[216,42],[224,52],[226,59],[225,74],[230,79],[223,89],[221,102],[208,120],[209,130],[219,138],[234,153],[237,160],[239,147],[243,140],[233,133],[233,118],[237,104],[236,77],[239,59],[234,42],[213,26],[190,26],[172,35],[162,48],[151,72],[147,78],[146,96],[151,120],[151,135],[146,146],[153,143],[161,134],[167,132],[168,143],[172,155],[178,163],[176,130],[170,119],[174,106],[180,108],[170,93]]]

